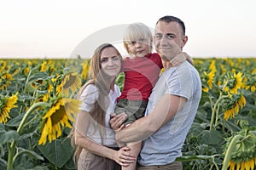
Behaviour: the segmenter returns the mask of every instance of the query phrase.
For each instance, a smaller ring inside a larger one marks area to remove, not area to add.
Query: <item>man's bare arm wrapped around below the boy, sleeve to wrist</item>
[[[130,143],[148,138],[166,122],[169,122],[186,101],[187,99],[177,95],[164,94],[148,116],[138,119],[129,127],[119,131],[116,134],[116,139],[120,143]]]

